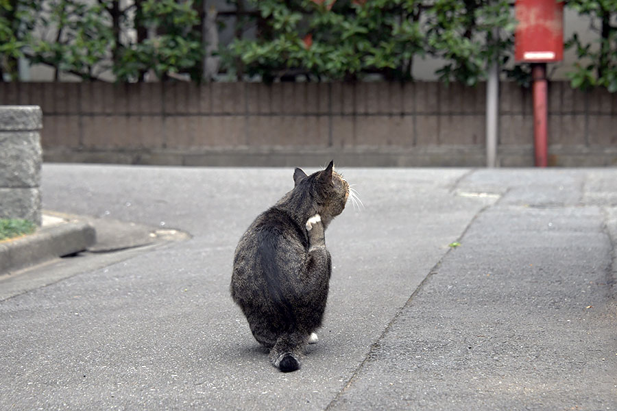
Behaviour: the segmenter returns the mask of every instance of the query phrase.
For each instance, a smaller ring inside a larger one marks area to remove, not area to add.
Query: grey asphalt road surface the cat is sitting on
[[[192,238],[21,274],[53,280],[0,301],[0,408],[617,409],[616,170],[343,169],[365,208],[283,374],[228,285],[292,173],[45,164],[46,209]]]

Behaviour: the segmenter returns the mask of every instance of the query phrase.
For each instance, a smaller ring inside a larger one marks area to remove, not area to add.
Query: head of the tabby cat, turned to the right
[[[302,169],[295,169],[293,181],[294,190],[306,190],[311,194],[315,211],[322,216],[334,217],[343,212],[349,197],[349,184],[334,171],[334,162],[331,161],[325,170],[311,175],[306,175]]]

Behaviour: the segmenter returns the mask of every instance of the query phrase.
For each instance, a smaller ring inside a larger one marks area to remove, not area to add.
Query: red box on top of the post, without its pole
[[[557,0],[516,0],[514,58],[546,63],[564,59],[564,3]]]

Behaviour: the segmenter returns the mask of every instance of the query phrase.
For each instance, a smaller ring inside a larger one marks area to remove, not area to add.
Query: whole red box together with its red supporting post
[[[535,165],[546,167],[546,63],[564,58],[564,3],[557,0],[516,0],[514,58],[531,63]]]

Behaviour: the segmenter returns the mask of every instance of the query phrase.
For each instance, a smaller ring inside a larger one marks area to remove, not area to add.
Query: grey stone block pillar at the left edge
[[[0,105],[0,218],[40,225],[38,107]]]

